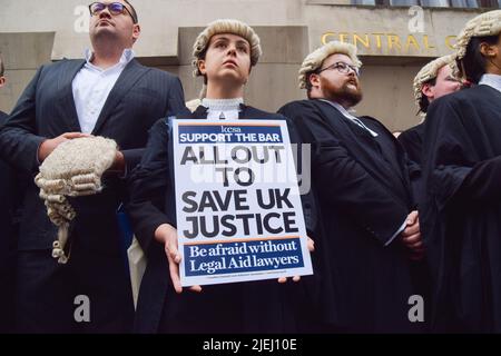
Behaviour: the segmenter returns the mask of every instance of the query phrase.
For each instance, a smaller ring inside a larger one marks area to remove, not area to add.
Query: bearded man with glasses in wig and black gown
[[[299,69],[308,100],[279,109],[312,145],[320,313],[327,332],[419,332],[407,317],[410,264],[423,254],[407,161],[382,123],[351,112],[362,99],[361,65],[352,44],[321,47]]]

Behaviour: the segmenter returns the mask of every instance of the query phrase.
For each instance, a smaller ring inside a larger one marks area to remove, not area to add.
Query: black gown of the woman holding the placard
[[[242,106],[240,119],[279,119]],[[177,119],[205,119],[205,107],[181,112]],[[295,134],[289,128],[291,140]],[[129,181],[131,191],[127,206],[136,237],[146,251],[148,264],[143,277],[135,330],[138,333],[296,333],[310,332],[311,316],[304,301],[306,285],[312,276],[297,284],[285,285],[275,279],[264,281],[204,286],[200,294],[187,288],[176,294],[170,281],[164,246],[154,240],[155,229],[164,222],[176,226],[169,127],[166,119],[151,129],[141,164]],[[305,206],[305,205],[304,205]],[[305,206],[306,226],[312,217]]]

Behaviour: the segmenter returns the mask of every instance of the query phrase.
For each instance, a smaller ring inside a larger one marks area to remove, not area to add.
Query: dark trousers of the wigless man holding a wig
[[[18,333],[131,332],[130,281],[119,254],[76,244],[66,265],[51,250],[32,250],[18,253],[17,267]]]

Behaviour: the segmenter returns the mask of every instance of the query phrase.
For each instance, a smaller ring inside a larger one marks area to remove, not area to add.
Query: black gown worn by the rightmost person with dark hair
[[[433,328],[501,332],[501,93],[477,86],[432,102],[422,229]]]

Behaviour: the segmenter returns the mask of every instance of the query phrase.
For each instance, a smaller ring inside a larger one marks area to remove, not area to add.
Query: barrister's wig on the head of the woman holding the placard
[[[253,28],[247,23],[235,19],[219,19],[210,22],[205,28],[205,30],[198,34],[197,39],[195,40],[195,44],[193,44],[193,66],[195,67],[195,77],[203,76],[198,70],[198,60],[205,58],[210,38],[214,34],[220,33],[232,33],[246,39],[250,46],[250,66],[256,66],[257,60],[259,59],[263,51],[261,49],[259,37],[256,34]]]

